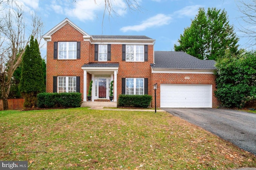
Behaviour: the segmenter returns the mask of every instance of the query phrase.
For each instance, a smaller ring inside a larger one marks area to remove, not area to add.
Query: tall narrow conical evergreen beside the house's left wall
[[[25,99],[24,107],[36,106],[36,96],[44,91],[44,72],[37,40],[31,36],[22,56],[20,92]]]

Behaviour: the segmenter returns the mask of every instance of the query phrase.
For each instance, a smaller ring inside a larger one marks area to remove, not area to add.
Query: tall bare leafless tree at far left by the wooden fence
[[[23,10],[13,4],[0,6],[0,89],[4,110],[8,109],[11,80],[19,66],[30,36],[38,36],[43,24],[31,14],[31,27],[23,18]],[[29,29],[31,28],[31,29]]]

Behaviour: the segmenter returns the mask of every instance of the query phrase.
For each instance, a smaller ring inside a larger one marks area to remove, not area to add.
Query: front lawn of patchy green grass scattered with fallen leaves
[[[29,170],[256,167],[256,157],[166,112],[0,111],[0,160]]]

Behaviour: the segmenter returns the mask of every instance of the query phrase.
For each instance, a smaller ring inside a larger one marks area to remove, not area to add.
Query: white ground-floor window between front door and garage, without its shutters
[[[126,78],[126,94],[144,94],[144,78]]]

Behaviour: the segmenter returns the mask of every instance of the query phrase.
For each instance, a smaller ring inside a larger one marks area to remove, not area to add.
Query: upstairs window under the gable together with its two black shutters
[[[78,41],[54,42],[53,59],[80,59],[80,44]]]

